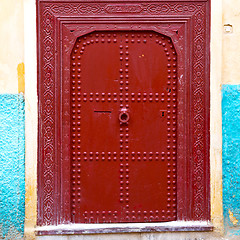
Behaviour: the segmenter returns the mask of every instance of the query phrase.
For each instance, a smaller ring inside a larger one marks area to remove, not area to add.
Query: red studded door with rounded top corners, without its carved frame
[[[177,55],[153,31],[95,31],[71,53],[75,223],[177,219]]]

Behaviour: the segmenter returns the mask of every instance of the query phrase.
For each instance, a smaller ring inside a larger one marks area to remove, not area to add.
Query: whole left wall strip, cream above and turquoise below
[[[0,239],[22,239],[25,217],[23,2],[0,0]]]

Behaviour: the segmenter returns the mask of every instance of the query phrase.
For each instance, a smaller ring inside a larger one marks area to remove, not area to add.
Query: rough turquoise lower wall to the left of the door
[[[0,239],[22,239],[25,217],[24,97],[0,95]]]

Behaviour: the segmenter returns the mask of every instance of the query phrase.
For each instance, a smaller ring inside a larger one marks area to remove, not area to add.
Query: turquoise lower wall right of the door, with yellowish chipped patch
[[[222,87],[223,210],[227,231],[240,234],[240,85]],[[240,239],[240,236],[239,236]]]

